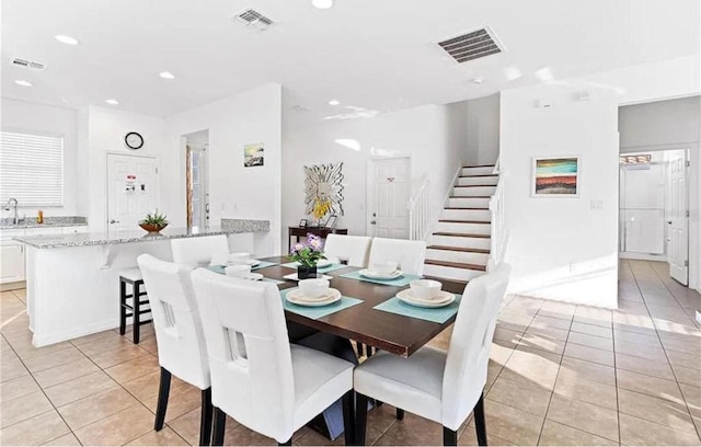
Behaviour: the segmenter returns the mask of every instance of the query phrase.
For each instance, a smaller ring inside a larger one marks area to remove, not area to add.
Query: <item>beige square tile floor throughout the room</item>
[[[175,381],[168,426],[152,431],[158,392],[150,326],[138,346],[107,331],[31,345],[24,290],[2,293],[0,444],[187,445],[197,442],[199,391]],[[620,309],[508,297],[486,387],[491,445],[700,445],[701,297],[666,264],[621,262]],[[447,346],[449,333],[432,343]],[[383,405],[368,443],[436,445],[436,423]],[[471,421],[461,445],[475,445]],[[272,439],[229,421],[229,445]],[[324,445],[307,428],[297,445]],[[334,444],[343,444],[343,437]]]

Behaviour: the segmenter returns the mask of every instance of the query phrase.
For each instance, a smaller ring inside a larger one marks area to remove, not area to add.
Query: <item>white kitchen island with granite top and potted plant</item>
[[[225,224],[225,222],[222,222]],[[166,228],[159,234],[118,230],[14,238],[26,245],[26,295],[32,344],[45,346],[117,328],[119,272],[143,253],[172,261],[171,239],[267,232],[261,220],[223,227]],[[235,249],[231,247],[230,250]]]

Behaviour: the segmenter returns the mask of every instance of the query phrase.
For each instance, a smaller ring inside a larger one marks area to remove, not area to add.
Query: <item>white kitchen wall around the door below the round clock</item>
[[[91,231],[104,231],[107,228],[107,153],[151,156],[159,163],[159,210],[164,211],[172,221],[176,209],[169,198],[177,188],[174,172],[169,161],[170,153],[164,145],[164,121],[162,118],[123,112],[118,110],[89,106],[79,112],[80,139],[79,184],[84,188],[84,209]],[[85,128],[87,126],[87,128]],[[124,145],[124,136],[138,131],[143,137],[143,148],[130,150]],[[183,186],[184,187],[184,186]]]

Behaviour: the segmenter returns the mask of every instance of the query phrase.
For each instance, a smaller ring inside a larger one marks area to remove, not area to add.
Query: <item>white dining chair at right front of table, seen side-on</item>
[[[409,358],[379,352],[355,369],[358,444],[365,442],[367,422],[361,409],[372,398],[441,424],[444,445],[450,446],[457,445],[458,428],[474,410],[478,444],[486,445],[482,391],[510,271],[501,264],[468,283],[447,352],[424,346]]]

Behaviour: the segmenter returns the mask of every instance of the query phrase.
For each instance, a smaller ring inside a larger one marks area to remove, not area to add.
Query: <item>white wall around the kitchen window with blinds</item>
[[[44,216],[78,215],[78,175],[77,175],[77,112],[71,108],[42,105],[25,101],[2,98],[2,129],[26,131],[64,137],[64,206],[42,207]],[[20,203],[20,217],[36,217],[38,208],[23,207]],[[3,217],[11,211],[2,210]]]

